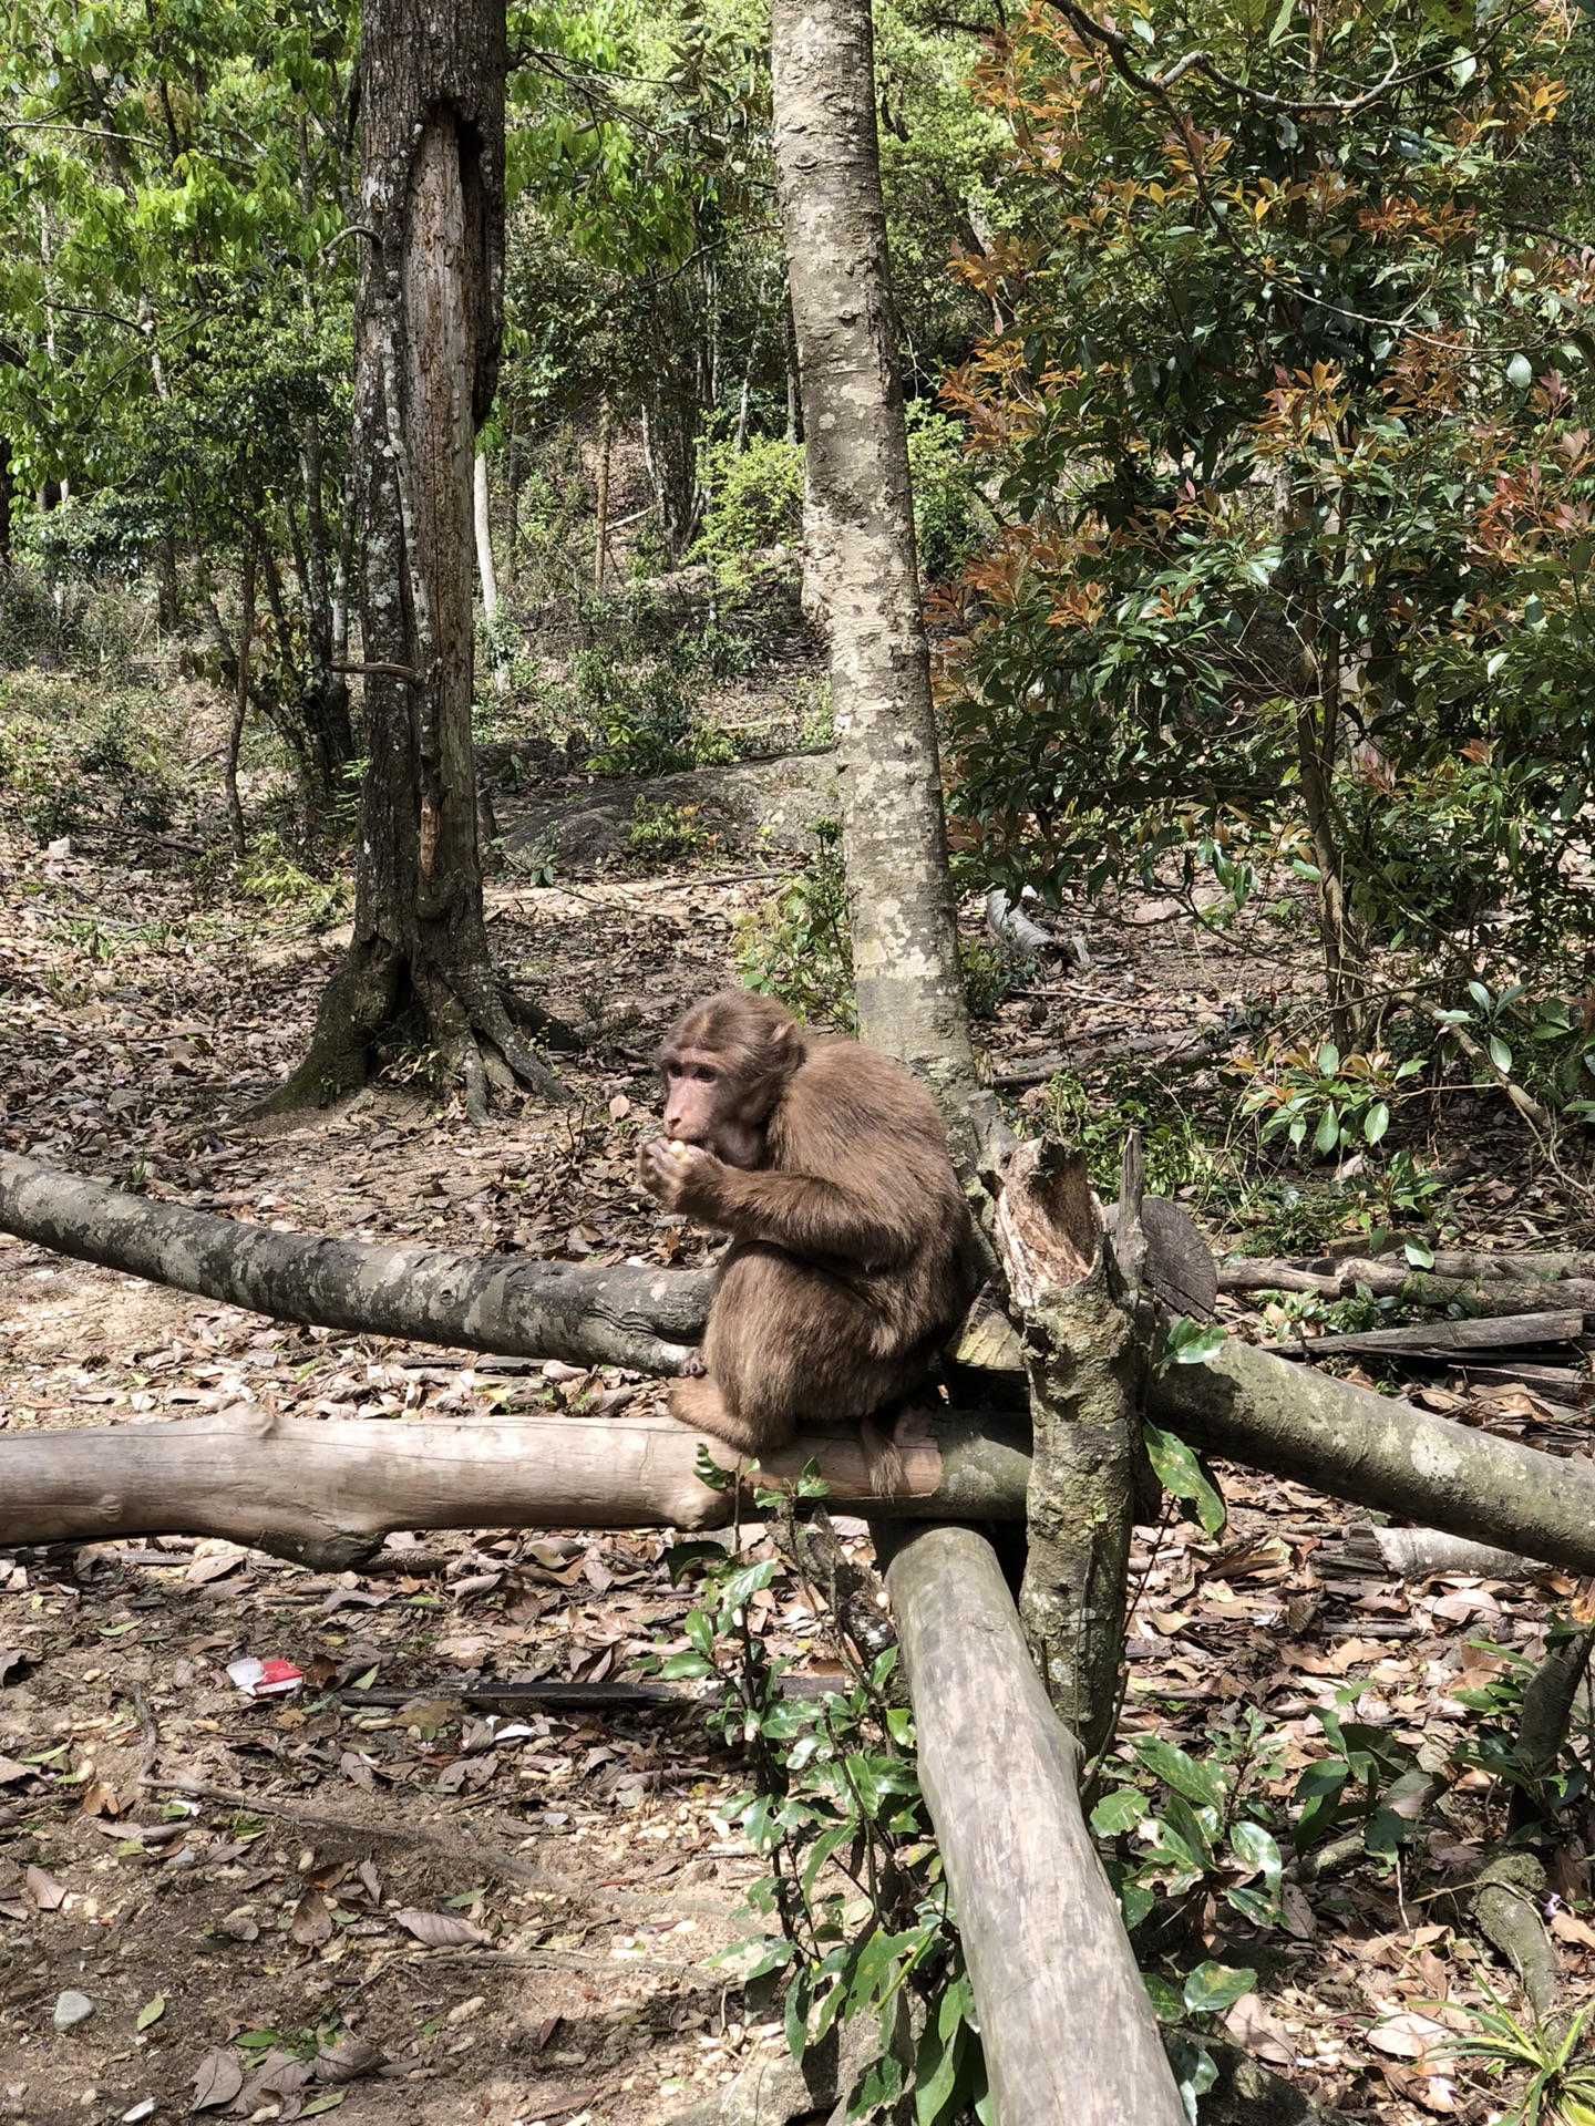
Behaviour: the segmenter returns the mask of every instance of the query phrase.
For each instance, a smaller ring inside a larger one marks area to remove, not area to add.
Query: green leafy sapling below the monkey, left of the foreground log
[[[810,1465],[797,1497],[823,1490]],[[970,2107],[985,2117],[974,1996],[919,1788],[914,1720],[893,1688],[897,1652],[861,1654],[836,1631],[846,1684],[821,1699],[780,1692],[791,1663],[763,1633],[793,1582],[791,1499],[761,1490],[757,1503],[783,1531],[774,1556],[712,1543],[676,1552],[681,1571],[702,1573],[702,1601],[683,1626],[691,1650],[661,1665],[725,1684],[710,1731],[742,1750],[751,1775],[725,1818],[766,1862],[746,1896],[761,1928],[717,1962],[744,1984],[778,1977],[793,2058],[836,2022],[878,2022],[880,2058],[846,2092],[849,2120],[902,2096],[917,2126],[951,2126]]]

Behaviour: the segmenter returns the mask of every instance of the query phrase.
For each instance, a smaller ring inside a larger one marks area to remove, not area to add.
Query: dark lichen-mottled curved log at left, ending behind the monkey
[[[276,1320],[644,1373],[681,1371],[708,1312],[708,1271],[276,1233],[15,1152],[0,1152],[0,1231]]]

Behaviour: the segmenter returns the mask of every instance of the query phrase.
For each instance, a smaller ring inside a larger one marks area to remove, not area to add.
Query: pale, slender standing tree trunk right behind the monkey
[[[968,1152],[974,1054],[887,285],[870,0],[774,0],[770,38],[808,453],[804,570],[829,631],[859,1031],[923,1072]]]

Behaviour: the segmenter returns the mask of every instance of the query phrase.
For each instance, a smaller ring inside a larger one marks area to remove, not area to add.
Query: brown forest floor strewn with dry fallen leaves
[[[500,806],[506,842],[515,812]],[[304,1046],[336,910],[217,887],[181,823],[145,838],[91,827],[53,848],[6,829],[0,1144],[293,1231],[700,1259],[704,1235],[655,1218],[632,1178],[647,1057],[681,999],[732,974],[734,925],[778,876],[768,846],[727,833],[655,874],[598,855],[561,859],[551,884],[500,878],[502,965],[593,1033],[561,1063],[572,1106],[500,1110],[470,1131],[423,1082],[383,1082],[262,1129],[240,1116]],[[1102,1131],[1125,1086],[1144,1101],[1161,1084],[1197,1118],[1233,1114],[1223,1054],[1191,1069],[1180,1048],[1244,1040],[1259,1001],[1312,1008],[1306,908],[1270,908],[1216,935],[1178,897],[1053,918],[1080,946],[980,1029],[1019,1112],[1044,1114],[1068,1063]],[[968,914],[974,927],[978,904]],[[1427,1127],[1463,1244],[1565,1244],[1586,1218],[1531,1174],[1495,1101]],[[1291,1191],[1225,1197],[1195,1167],[1180,1195],[1219,1248],[1289,1252]],[[1278,1303],[1223,1312],[1250,1335],[1289,1318]],[[598,1397],[647,1407],[659,1393],[615,1369],[572,1378],[272,1324],[4,1239],[0,1324],[0,1433],[238,1401],[404,1422]],[[1527,1386],[1414,1393],[1595,1452],[1582,1416],[1552,1422]],[[1293,1484],[1223,1478],[1223,1537],[1140,1531],[1123,1735],[1204,1754],[1259,1707],[1280,1737],[1265,1788],[1278,1799],[1325,1750],[1319,1709],[1353,1690],[1357,1718],[1425,1767],[1446,1760],[1474,1720],[1455,1692],[1533,1658],[1546,1612],[1574,1594],[1557,1573],[1404,1584],[1314,1569],[1355,1516]],[[866,1548],[861,1524],[844,1531]],[[651,2126],[780,2054],[778,2024],[744,2020],[740,1990],[708,1967],[749,1930],[736,1907],[757,1869],[721,1813],[738,1762],[700,1718],[506,1724],[457,1697],[483,1680],[623,1677],[638,1654],[683,1648],[689,1597],[666,1548],[396,1535],[376,1569],[336,1577],[181,1537],[0,1552],[0,2120],[162,2126],[211,2100],[202,2115],[336,2109],[349,2126]],[[802,1603],[772,1629],[800,1663],[825,1658]],[[289,1660],[304,1682],[253,1701],[228,1675],[240,1656]],[[372,1688],[389,1701],[359,1697]],[[1499,2096],[1440,2047],[1512,1977],[1442,1892],[1478,1867],[1501,1813],[1499,1788],[1465,1773],[1397,1869],[1350,1862],[1291,1888],[1287,1926],[1265,1937],[1197,1901],[1197,1954],[1259,1971],[1231,2035],[1353,2120],[1491,2117]],[[1572,2003],[1595,1992],[1591,1847],[1595,1820],[1572,1824],[1552,1867]],[[57,2030],[66,1992],[91,2011]]]

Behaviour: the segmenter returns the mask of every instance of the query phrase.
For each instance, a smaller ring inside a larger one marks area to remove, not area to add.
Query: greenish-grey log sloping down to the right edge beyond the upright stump
[[[1467,1431],[1233,1339],[1206,1365],[1157,1371],[1146,1412],[1191,1446],[1336,1499],[1595,1571],[1595,1475],[1584,1463]]]

